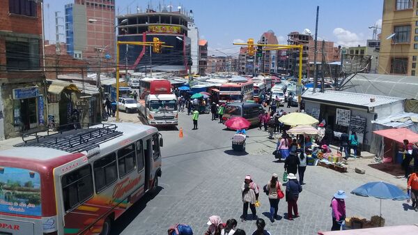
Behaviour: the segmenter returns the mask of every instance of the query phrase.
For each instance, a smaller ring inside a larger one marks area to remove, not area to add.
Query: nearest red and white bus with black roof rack
[[[151,126],[103,123],[22,139],[0,151],[0,234],[109,235],[162,174],[162,138]]]

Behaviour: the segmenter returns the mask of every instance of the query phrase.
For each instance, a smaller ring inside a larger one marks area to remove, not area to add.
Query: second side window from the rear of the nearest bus
[[[116,153],[110,153],[93,163],[94,183],[96,192],[111,185],[118,179],[116,169]]]

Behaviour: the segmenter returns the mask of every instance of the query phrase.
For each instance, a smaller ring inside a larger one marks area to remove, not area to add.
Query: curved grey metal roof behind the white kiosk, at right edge
[[[357,73],[340,91],[418,99],[418,77]]]

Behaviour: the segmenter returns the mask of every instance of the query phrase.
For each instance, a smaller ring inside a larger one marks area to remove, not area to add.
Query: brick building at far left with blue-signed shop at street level
[[[41,5],[0,0],[0,139],[46,123]]]

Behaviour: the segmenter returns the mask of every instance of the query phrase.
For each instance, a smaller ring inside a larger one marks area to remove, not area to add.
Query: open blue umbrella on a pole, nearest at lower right
[[[357,196],[380,199],[380,218],[382,218],[382,199],[402,201],[409,198],[400,188],[385,182],[369,182],[351,191],[351,193]]]

